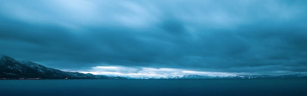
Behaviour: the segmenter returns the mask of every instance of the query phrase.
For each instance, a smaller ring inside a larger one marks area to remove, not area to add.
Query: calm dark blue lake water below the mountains
[[[307,96],[307,79],[0,80],[1,96]]]

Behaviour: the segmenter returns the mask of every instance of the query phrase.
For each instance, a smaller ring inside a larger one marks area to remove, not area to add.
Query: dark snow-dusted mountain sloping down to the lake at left
[[[40,78],[40,79],[126,79],[105,75],[65,72],[47,68],[30,61],[17,61],[9,56],[0,54],[0,79]]]

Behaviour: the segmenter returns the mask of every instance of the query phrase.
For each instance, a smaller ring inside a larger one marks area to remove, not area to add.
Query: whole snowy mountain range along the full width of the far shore
[[[257,78],[307,78],[307,73],[291,75],[238,75],[238,76],[206,76],[184,75],[164,77],[119,77],[106,75],[65,72],[47,68],[30,61],[17,61],[0,54],[0,79],[257,79]]]

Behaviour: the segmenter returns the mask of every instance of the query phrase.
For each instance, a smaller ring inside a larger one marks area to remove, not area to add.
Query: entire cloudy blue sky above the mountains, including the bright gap
[[[307,72],[304,0],[1,0],[0,54],[111,76]]]

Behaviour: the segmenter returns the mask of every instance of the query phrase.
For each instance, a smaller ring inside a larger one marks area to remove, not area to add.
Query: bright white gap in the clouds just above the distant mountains
[[[235,76],[238,73],[191,71],[175,68],[150,68],[150,67],[123,67],[123,66],[97,66],[87,71],[76,71],[80,73],[91,73],[94,75],[127,76],[127,77],[163,77],[183,75],[208,75],[208,76]]]

